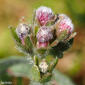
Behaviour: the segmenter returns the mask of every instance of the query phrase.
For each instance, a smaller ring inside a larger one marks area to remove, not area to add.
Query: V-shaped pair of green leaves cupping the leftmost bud
[[[33,53],[33,45],[32,45],[32,42],[30,40],[30,37],[26,37],[25,38],[25,45],[22,45],[21,43],[21,40],[20,38],[17,36],[16,34],[16,28],[14,27],[10,27],[10,30],[11,30],[11,33],[12,33],[12,36],[16,42],[16,45],[17,45],[17,48],[20,52],[23,52],[23,53],[29,53],[29,54],[32,54]]]

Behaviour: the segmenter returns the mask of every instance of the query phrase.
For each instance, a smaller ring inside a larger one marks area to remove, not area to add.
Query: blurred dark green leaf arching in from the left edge
[[[0,60],[0,75],[3,75],[6,70],[15,64],[19,64],[19,63],[26,63],[27,60],[25,60],[24,58],[6,58],[6,59],[1,59]]]

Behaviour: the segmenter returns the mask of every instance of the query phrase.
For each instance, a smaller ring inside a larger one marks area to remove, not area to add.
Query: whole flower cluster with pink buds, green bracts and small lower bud
[[[62,58],[63,52],[72,45],[76,33],[73,33],[74,26],[67,15],[54,14],[48,7],[39,7],[33,22],[32,25],[21,22],[11,32],[19,50],[34,59],[34,68],[40,72],[41,78],[48,77],[58,58]],[[49,62],[48,56],[54,60]]]

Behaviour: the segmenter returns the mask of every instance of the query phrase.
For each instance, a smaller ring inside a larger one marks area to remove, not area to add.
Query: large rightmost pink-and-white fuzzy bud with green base
[[[59,20],[56,23],[56,26],[56,35],[59,40],[66,39],[73,32],[74,29],[71,19],[64,14],[59,15]]]

